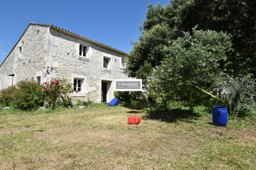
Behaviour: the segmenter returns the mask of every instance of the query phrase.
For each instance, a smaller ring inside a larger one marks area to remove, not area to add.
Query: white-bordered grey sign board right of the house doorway
[[[115,79],[115,91],[142,91],[141,79]]]

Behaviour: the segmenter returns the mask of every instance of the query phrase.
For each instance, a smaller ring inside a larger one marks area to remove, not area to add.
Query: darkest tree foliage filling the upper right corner
[[[178,3],[180,1],[173,1]],[[202,30],[227,32],[232,36],[233,51],[227,53],[221,67],[228,73],[254,73],[256,46],[256,2],[251,0],[194,0],[177,7],[178,28],[190,31],[198,26]],[[254,75],[256,76],[256,75]]]

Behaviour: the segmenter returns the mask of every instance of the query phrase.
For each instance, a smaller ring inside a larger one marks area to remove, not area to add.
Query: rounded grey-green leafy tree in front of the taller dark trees
[[[189,99],[193,85],[209,87],[221,73],[219,62],[226,59],[230,37],[224,32],[192,30],[164,46],[166,56],[154,70],[151,87],[164,101]]]

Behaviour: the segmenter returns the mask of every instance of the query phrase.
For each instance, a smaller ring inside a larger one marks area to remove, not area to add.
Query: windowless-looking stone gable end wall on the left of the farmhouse
[[[47,26],[29,25],[2,63],[0,74],[14,74],[14,84],[20,80],[36,80],[36,74],[42,77],[47,60],[48,30]]]

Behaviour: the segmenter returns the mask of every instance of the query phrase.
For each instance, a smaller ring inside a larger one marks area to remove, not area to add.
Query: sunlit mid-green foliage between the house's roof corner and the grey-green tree
[[[140,36],[140,42],[133,42],[133,50],[128,58],[127,70],[130,76],[136,76],[136,72],[140,70],[140,66],[144,65],[144,61],[150,63],[154,68],[161,63],[166,51],[164,46],[170,45],[173,32],[166,26],[153,26],[152,29],[144,32]]]

